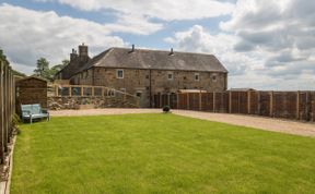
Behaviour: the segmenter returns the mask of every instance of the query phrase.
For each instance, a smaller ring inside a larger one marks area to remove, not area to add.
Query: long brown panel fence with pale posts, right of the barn
[[[154,95],[154,107],[315,121],[315,92],[222,92]]]

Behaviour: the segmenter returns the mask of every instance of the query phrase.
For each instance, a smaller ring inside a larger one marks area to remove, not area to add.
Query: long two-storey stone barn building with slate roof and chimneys
[[[88,46],[72,50],[70,64],[56,78],[73,85],[95,85],[119,89],[141,98],[142,107],[152,106],[155,94],[179,89],[223,92],[228,71],[213,54],[109,48],[90,59]]]

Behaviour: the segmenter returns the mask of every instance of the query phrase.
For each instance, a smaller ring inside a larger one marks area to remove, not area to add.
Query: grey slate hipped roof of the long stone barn
[[[171,54],[170,51],[147,49],[131,51],[130,48],[110,48],[91,59],[74,74],[92,66],[228,73],[228,70],[213,54],[177,51]]]

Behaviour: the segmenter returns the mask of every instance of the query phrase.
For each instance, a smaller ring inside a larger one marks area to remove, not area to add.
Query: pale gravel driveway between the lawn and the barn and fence
[[[51,117],[67,116],[102,116],[124,113],[160,113],[161,109],[89,109],[89,110],[59,110],[50,111]],[[256,128],[260,130],[289,133],[303,136],[315,136],[315,124],[289,120],[271,119],[254,116],[211,113],[190,110],[172,110],[173,113],[209,121],[230,123],[242,126]]]

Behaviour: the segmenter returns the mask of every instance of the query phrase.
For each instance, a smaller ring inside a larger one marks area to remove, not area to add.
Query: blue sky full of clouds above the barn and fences
[[[229,88],[315,89],[314,0],[0,0],[0,48],[32,74],[89,46],[214,54]]]

